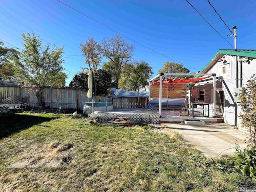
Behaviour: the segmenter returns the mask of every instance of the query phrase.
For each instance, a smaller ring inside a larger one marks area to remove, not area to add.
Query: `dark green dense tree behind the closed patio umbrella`
[[[96,94],[108,94],[108,89],[111,87],[111,74],[105,70],[98,69],[94,73],[94,78],[96,82]],[[87,73],[80,72],[76,74],[69,86],[88,90]]]

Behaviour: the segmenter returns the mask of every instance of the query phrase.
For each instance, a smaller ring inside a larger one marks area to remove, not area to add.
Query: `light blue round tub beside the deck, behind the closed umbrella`
[[[93,111],[111,111],[111,110],[113,110],[112,102],[97,102],[93,106]],[[91,114],[92,102],[85,102],[83,111],[85,114]]]

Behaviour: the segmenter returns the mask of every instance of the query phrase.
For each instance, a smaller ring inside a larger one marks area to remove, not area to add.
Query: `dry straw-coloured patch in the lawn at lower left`
[[[69,164],[74,158],[70,154],[74,144],[54,142],[49,145],[37,146],[33,151],[28,152],[29,157],[22,157],[12,163],[10,168],[24,167],[58,167],[61,164]]]

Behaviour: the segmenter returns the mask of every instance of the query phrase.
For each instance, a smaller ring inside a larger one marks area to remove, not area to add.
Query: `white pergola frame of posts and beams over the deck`
[[[160,73],[154,78],[150,79],[149,81],[149,88],[150,88],[150,82],[152,82],[156,78],[160,78],[159,82],[159,115],[161,117],[162,115],[162,76],[212,76],[213,82],[213,100],[212,100],[212,108],[213,108],[213,116],[212,118],[216,118],[216,74],[215,73]]]

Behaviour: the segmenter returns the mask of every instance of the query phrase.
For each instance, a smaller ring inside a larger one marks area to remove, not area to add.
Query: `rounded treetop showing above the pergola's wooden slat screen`
[[[159,73],[189,73],[190,71],[183,67],[182,64],[174,63],[174,62],[164,62],[162,68],[158,70]],[[168,78],[186,78],[187,76],[168,76]],[[166,77],[165,77],[166,78]]]

